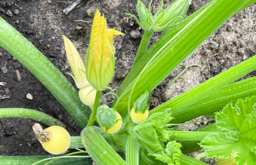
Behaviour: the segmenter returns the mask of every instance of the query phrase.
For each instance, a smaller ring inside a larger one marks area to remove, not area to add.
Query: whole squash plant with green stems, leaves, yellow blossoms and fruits
[[[254,2],[212,0],[184,19],[190,0],[176,0],[166,9],[161,0],[154,15],[150,10],[152,1],[147,8],[138,0],[138,18],[126,14],[134,17],[145,32],[134,64],[111,107],[100,103],[101,91],[112,90],[108,84],[115,68],[113,35],[124,34],[109,29],[99,9],[93,18],[85,62],[63,36],[73,73],[70,75],[79,93],[37,48],[0,18],[0,45],[28,68],[83,128],[80,136],[70,137],[61,128],[65,124],[47,114],[25,108],[2,108],[0,117],[27,117],[51,126],[45,130],[38,124],[33,127],[36,137],[51,154],[63,154],[68,148],[80,149],[62,156],[0,156],[0,162],[90,164],[91,157],[98,165],[204,165],[186,156],[203,148],[198,158],[215,158],[218,164],[254,165],[256,77],[232,82],[256,69],[256,56],[148,110],[150,92],[225,20]],[[148,48],[151,35],[160,31],[160,39]],[[209,114],[214,116],[215,123],[197,130],[189,132],[174,127]]]

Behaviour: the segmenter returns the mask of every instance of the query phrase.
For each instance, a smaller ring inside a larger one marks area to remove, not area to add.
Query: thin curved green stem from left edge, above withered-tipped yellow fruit
[[[67,127],[64,123],[48,114],[26,108],[0,108],[0,118],[1,117],[23,117],[40,121],[48,126],[58,125],[64,128]]]

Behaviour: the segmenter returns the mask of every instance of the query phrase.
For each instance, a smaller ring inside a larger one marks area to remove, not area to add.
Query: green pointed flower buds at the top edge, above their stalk
[[[191,0],[176,0],[164,10],[162,8],[163,0],[161,0],[161,6],[153,16],[150,11],[152,1],[150,2],[147,9],[143,2],[138,0],[136,11],[138,13],[139,19],[134,15],[128,15],[133,16],[137,24],[139,24],[139,26],[141,26],[146,31],[163,31],[165,29],[174,27],[183,20],[189,7],[190,1]]]

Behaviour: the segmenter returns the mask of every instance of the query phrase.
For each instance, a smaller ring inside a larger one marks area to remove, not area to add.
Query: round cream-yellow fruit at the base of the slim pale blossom
[[[96,90],[93,90],[93,86],[89,85],[79,90],[79,98],[83,104],[91,106],[94,104],[96,97]]]

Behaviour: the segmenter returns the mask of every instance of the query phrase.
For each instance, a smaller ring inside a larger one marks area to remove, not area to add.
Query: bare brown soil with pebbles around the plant
[[[195,12],[209,1],[192,0],[187,15]],[[144,2],[148,4],[149,0],[144,0]],[[173,0],[167,0],[165,4],[171,2]],[[58,3],[57,0],[1,0],[0,16],[28,38],[62,73],[65,73],[70,72],[70,68],[65,58],[61,35],[66,35],[72,40],[84,58],[89,43],[90,21],[93,20],[90,13],[91,11],[94,12],[97,6],[107,17],[109,27],[116,27],[117,30],[126,34],[125,37],[119,37],[120,40],[115,42],[117,68],[115,68],[115,75],[110,86],[118,88],[132,66],[143,35],[143,30],[136,24],[135,20],[124,15],[124,13],[135,14],[135,0],[89,0],[68,16],[61,11],[63,3]],[[154,1],[152,4],[153,12],[159,6],[160,1]],[[159,34],[154,34],[150,44],[158,38]],[[256,4],[230,18],[181,66],[174,70],[152,92],[151,97],[154,98],[154,103],[151,108],[252,57],[254,54],[256,54]],[[184,69],[184,66],[190,64],[197,64],[201,67],[190,67],[169,87],[171,81]],[[2,67],[4,68],[0,70],[0,82],[7,84],[0,86],[0,96],[7,94],[9,98],[0,99],[0,108],[22,107],[40,110],[73,127],[74,130],[69,130],[71,135],[79,134],[80,128],[50,92],[19,61],[0,48],[0,68]],[[16,70],[19,70],[21,81],[17,79]],[[253,75],[256,75],[255,71],[246,77]],[[66,75],[66,77],[74,84],[70,76]],[[33,96],[32,100],[26,97],[28,93]],[[111,99],[111,97],[107,98],[108,101]],[[34,138],[31,129],[34,123],[35,121],[30,119],[0,119],[0,155],[47,154],[37,139]],[[193,130],[200,126],[202,124],[189,125],[186,129]]]

